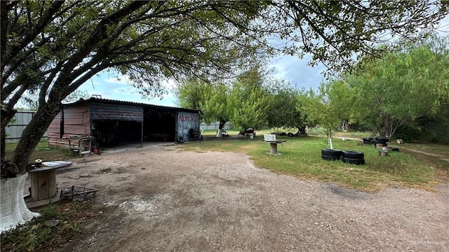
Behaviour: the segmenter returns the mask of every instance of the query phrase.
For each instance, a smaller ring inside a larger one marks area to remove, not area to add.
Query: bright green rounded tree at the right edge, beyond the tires
[[[346,77],[358,93],[359,121],[392,138],[399,128],[432,117],[449,101],[448,37],[402,45],[401,51],[358,65]]]

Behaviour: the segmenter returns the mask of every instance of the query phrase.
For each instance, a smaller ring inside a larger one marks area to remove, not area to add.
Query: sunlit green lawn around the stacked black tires
[[[365,192],[377,192],[384,187],[395,185],[433,190],[434,185],[439,182],[438,176],[449,176],[448,169],[445,168],[447,162],[445,164],[435,162],[430,165],[425,159],[415,157],[408,152],[391,152],[389,157],[380,157],[379,150],[376,150],[373,145],[357,145],[357,140],[333,138],[333,146],[339,150],[363,152],[366,159],[366,164],[363,166],[321,159],[321,149],[328,148],[327,140],[323,137],[278,136],[277,138],[287,140],[283,145],[278,146],[280,155],[268,154],[269,144],[261,141],[262,134],[258,134],[254,140],[243,138],[205,140],[189,142],[180,147],[196,152],[207,150],[245,152],[251,156],[258,167],[302,179],[329,181]],[[448,146],[438,145],[438,152],[439,150],[441,152],[445,150],[445,154],[449,154]]]

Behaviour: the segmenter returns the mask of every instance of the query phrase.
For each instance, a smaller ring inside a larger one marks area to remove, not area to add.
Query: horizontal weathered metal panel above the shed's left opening
[[[92,120],[143,121],[143,107],[91,102]]]

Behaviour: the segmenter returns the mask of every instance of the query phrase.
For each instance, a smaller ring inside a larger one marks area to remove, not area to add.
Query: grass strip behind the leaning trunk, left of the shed
[[[7,143],[5,148],[5,160],[11,160],[13,157],[13,152],[15,150],[17,143]],[[54,160],[65,160],[74,159],[80,157],[79,154],[74,152],[69,152],[68,149],[49,146],[46,140],[39,142],[39,144],[34,149],[31,157],[29,157],[29,162],[34,162],[35,159],[42,159],[42,161],[54,161]]]

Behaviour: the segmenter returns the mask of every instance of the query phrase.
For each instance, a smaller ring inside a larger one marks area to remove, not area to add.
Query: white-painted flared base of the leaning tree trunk
[[[1,179],[0,232],[12,230],[17,225],[40,215],[29,211],[23,199],[23,186],[26,179],[27,174]]]

